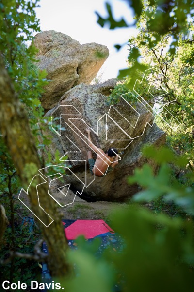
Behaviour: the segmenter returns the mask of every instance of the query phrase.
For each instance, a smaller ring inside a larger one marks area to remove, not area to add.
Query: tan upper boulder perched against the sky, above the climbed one
[[[109,56],[104,45],[81,45],[77,40],[54,30],[37,34],[33,43],[39,49],[37,66],[45,69],[47,79],[51,80],[41,99],[46,110],[53,108],[64,92],[75,85],[89,84]]]

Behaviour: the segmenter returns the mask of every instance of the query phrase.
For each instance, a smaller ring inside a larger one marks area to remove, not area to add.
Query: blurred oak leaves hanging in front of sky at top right
[[[148,45],[149,50],[155,48],[166,35],[170,35],[168,52],[174,55],[178,41],[181,35],[189,35],[193,23],[194,16],[194,0],[182,1],[164,1],[164,0],[146,0],[133,1],[128,0],[129,7],[134,10],[135,21],[132,25],[144,34],[144,39],[141,40],[141,45]],[[116,22],[112,15],[112,7],[106,5],[109,17],[103,19],[98,13],[98,23],[103,27],[105,23],[109,24],[111,29],[116,27],[125,27],[126,22]],[[188,20],[189,19],[189,20]],[[123,25],[122,25],[123,24]],[[130,41],[129,41],[130,43]],[[122,46],[117,44],[116,49]],[[134,86],[135,80],[139,78],[137,71],[143,73],[146,70],[146,64],[139,62],[141,52],[138,47],[133,47],[129,50],[129,69],[120,70],[119,78],[129,76],[129,89]],[[132,60],[132,63],[131,63]]]

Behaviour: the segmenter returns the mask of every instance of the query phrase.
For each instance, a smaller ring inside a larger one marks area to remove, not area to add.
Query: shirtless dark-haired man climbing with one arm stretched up
[[[109,148],[108,151],[104,152],[102,149],[97,148],[97,146],[92,144],[90,128],[87,128],[86,132],[88,133],[89,146],[97,153],[97,159],[95,160],[93,159],[92,151],[88,151],[90,172],[92,175],[103,177],[103,174],[106,173],[107,168],[107,173],[110,173],[118,164],[118,151],[117,149]]]

